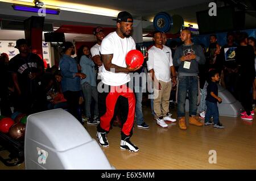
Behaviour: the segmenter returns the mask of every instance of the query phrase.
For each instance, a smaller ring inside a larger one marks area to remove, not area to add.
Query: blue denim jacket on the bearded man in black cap
[[[78,72],[77,62],[71,56],[66,54],[60,58],[60,71],[63,79],[61,81],[61,89],[65,91],[80,91],[80,77],[76,77]]]

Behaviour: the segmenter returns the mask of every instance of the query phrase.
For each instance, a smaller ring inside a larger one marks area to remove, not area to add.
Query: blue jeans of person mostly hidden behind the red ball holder
[[[135,89],[134,93],[136,95],[136,107],[135,107],[136,122],[137,122],[137,125],[141,125],[142,123],[144,123],[143,113],[142,113],[142,94],[143,93],[142,91],[138,91],[137,89]]]

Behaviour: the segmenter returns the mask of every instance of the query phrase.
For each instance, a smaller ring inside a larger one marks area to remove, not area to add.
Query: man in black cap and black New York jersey
[[[25,39],[16,41],[19,54],[11,58],[9,72],[15,87],[15,110],[22,113],[35,113],[46,110],[46,92],[40,77],[44,71],[43,60],[30,52]]]

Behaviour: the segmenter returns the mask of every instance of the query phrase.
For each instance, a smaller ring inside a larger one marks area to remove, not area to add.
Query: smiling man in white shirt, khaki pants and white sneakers
[[[166,128],[168,125],[165,121],[176,121],[176,119],[168,116],[171,88],[176,85],[175,69],[172,65],[171,49],[163,45],[162,33],[154,32],[153,40],[155,45],[148,50],[147,68],[155,85],[154,112],[156,123],[160,127]]]

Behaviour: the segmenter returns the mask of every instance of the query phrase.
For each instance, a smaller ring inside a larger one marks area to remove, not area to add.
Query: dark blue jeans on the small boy
[[[218,123],[218,106],[217,103],[206,101],[207,103],[207,113],[205,114],[205,123],[210,121],[210,117],[213,116],[213,123]]]

